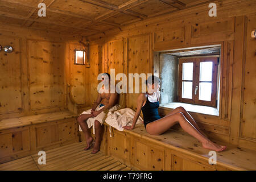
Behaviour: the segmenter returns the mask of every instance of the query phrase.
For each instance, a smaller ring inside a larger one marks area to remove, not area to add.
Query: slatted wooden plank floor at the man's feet
[[[0,171],[130,171],[118,160],[105,156],[103,152],[91,154],[84,151],[84,142],[46,151],[46,165],[39,165],[37,154],[0,164]]]

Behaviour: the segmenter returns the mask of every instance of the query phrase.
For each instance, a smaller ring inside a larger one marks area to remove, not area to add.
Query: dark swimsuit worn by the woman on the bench
[[[150,102],[147,98],[146,104],[142,107],[144,126],[148,123],[156,121],[160,119],[160,115],[158,114],[159,101]]]

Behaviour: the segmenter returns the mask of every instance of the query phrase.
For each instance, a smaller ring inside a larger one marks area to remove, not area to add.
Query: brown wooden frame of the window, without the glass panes
[[[200,63],[201,62],[213,62],[213,72],[212,72],[212,96],[210,101],[199,100],[199,83],[208,82],[200,81]],[[192,99],[182,98],[182,82],[187,80],[182,80],[183,73],[183,63],[193,63],[193,80],[192,80]],[[217,73],[218,73],[218,57],[193,57],[193,58],[181,58],[179,59],[179,81],[178,81],[178,101],[188,104],[197,104],[216,107],[216,97],[217,97]],[[198,86],[197,94],[195,94],[195,88]]]

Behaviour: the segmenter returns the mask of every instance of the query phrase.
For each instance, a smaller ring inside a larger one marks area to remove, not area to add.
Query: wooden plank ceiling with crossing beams
[[[47,6],[38,16],[38,4]],[[207,0],[0,0],[0,23],[90,36]]]

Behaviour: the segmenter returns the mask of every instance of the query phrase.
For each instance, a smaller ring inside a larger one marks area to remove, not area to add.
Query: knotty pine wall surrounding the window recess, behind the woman
[[[256,28],[256,2],[216,4],[217,17],[209,17],[208,5],[201,5],[89,36],[92,75],[110,68],[126,74],[158,72],[157,51],[221,44],[220,116],[191,115],[210,138],[256,150],[256,40],[250,38]],[[95,83],[92,78],[92,90]],[[92,92],[92,100],[96,96]],[[137,96],[126,94],[126,106],[136,109]],[[160,109],[162,114],[168,111]]]

